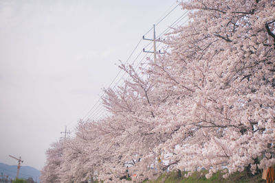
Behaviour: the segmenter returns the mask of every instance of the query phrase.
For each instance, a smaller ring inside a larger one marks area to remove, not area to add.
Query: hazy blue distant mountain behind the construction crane
[[[17,165],[8,165],[0,162],[0,175],[9,175],[9,178],[17,177]],[[40,171],[34,167],[21,166],[19,171],[19,178],[28,179],[33,178],[34,181],[40,182]]]

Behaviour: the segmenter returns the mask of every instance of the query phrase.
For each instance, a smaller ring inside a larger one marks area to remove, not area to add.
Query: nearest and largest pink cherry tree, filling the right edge
[[[211,169],[208,177],[223,166],[225,177],[248,165],[253,173],[271,166],[274,1],[188,1],[183,7],[193,10],[192,21],[170,36],[171,51],[155,73],[159,82],[182,89],[177,108],[184,114],[177,135],[159,149],[174,154],[175,169],[204,167]]]

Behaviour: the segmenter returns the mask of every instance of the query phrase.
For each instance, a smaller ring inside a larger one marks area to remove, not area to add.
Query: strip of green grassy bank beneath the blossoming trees
[[[214,173],[210,179],[206,179],[207,171],[195,172],[188,178],[180,176],[179,173],[173,171],[164,173],[157,180],[146,180],[142,183],[258,183],[266,182],[262,179],[262,173],[252,175],[248,171],[236,172],[230,175],[227,179],[223,179],[223,173],[218,171]]]

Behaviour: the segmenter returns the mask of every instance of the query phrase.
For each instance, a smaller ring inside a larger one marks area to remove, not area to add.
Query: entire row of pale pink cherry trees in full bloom
[[[119,182],[167,170],[223,169],[224,177],[275,164],[275,1],[190,0],[190,22],[165,40],[143,73],[104,90],[111,113],[80,121],[47,150],[43,182]]]

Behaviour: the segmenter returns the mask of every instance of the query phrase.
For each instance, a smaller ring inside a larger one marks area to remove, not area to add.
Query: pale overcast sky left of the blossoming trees
[[[10,154],[42,169],[65,125],[74,127],[94,106],[118,60],[172,5],[176,0],[0,0],[0,162],[17,164]],[[178,7],[156,31],[182,13]]]

